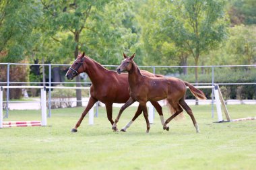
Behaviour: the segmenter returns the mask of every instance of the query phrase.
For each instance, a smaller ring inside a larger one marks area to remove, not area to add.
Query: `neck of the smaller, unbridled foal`
[[[139,68],[137,67],[137,65],[135,65],[134,62],[131,71],[129,71],[128,73],[129,86],[132,89],[135,85],[137,85],[137,83],[141,81],[141,79],[143,79],[143,75],[141,75]]]

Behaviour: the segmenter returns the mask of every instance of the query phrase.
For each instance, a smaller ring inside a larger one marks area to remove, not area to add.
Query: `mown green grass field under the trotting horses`
[[[84,108],[53,110],[49,126],[0,129],[0,169],[256,168],[256,120],[218,124],[210,105],[191,108],[200,134],[187,114],[170,122],[169,132],[162,130],[158,115],[149,134],[143,116],[127,132],[113,132],[104,108],[93,126],[86,116],[78,132],[71,133]],[[114,108],[113,118],[118,111]],[[256,116],[255,105],[228,105],[228,111],[232,119]],[[119,129],[134,112],[125,110]],[[8,120],[40,120],[40,110],[11,111]]]

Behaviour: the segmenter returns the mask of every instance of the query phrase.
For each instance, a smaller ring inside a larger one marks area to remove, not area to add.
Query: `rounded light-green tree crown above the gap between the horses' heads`
[[[90,26],[94,31],[84,30],[81,46],[86,54],[103,65],[119,65],[123,52],[137,52],[138,30],[133,1],[110,1],[97,11],[97,17],[90,20]]]

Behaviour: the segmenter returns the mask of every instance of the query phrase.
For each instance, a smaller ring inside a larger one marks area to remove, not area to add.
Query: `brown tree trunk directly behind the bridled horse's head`
[[[78,50],[79,50],[79,31],[76,30],[75,31],[75,52],[74,52],[74,56],[75,58],[77,58],[77,55],[78,55]],[[79,75],[77,75],[77,77],[75,77],[75,82],[77,83],[76,84],[76,87],[81,87],[81,78]],[[76,106],[77,107],[81,107],[82,106],[82,91],[81,89],[76,89]]]

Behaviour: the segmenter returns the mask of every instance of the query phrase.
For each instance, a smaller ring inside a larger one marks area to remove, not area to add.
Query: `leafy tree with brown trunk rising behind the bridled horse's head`
[[[88,24],[89,17],[95,19],[98,10],[102,9],[108,1],[47,1],[41,0],[44,5],[44,16],[46,19],[45,31],[53,40],[59,42],[63,50],[60,54],[69,56],[73,52],[76,58],[79,52],[80,37],[84,30],[94,32],[94,28]],[[62,34],[65,33],[65,34]],[[58,37],[59,36],[59,37]],[[83,50],[83,48],[81,49]],[[75,78],[77,87],[80,87],[80,77]],[[76,90],[77,106],[82,106],[81,89]]]

